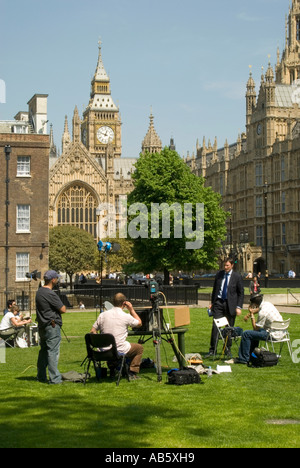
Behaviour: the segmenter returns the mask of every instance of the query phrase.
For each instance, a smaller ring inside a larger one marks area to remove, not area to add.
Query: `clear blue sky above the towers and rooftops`
[[[98,40],[122,119],[122,154],[138,157],[152,106],[163,145],[179,154],[196,141],[234,143],[245,130],[252,65],[276,63],[285,44],[289,0],[0,0],[0,80],[12,119],[36,93],[49,94],[48,118],[61,148],[65,115],[90,97]]]

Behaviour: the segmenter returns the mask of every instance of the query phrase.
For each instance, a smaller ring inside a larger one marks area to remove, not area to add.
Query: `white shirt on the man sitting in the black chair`
[[[128,327],[137,327],[139,321],[126,314],[119,307],[102,312],[93,328],[101,333],[109,333],[115,337],[119,353],[127,354],[130,351],[130,343],[127,340]]]

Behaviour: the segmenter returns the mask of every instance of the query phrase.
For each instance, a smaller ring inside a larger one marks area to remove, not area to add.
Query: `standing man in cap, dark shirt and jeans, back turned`
[[[59,275],[49,270],[44,275],[45,285],[36,293],[36,318],[39,326],[41,349],[37,363],[37,379],[47,382],[47,367],[50,384],[60,384],[61,374],[58,370],[58,359],[61,342],[61,314],[66,313],[66,307],[53,291]]]

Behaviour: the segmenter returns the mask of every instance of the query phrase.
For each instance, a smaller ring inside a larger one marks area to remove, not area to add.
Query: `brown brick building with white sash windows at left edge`
[[[0,122],[0,310],[11,297],[31,308],[39,282],[26,274],[48,269],[47,96],[28,105],[15,120]]]

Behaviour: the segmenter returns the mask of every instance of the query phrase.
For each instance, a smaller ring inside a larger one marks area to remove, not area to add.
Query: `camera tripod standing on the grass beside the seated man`
[[[166,341],[172,346],[178,362],[180,362],[180,355],[175,345],[172,334],[169,331],[168,327],[166,326],[164,316],[161,313],[161,309],[159,307],[159,295],[157,293],[151,295],[151,303],[152,303],[151,316],[152,316],[152,322],[153,322],[153,344],[155,347],[157,381],[161,382],[162,381],[162,368],[161,368],[160,346],[161,346],[162,340]],[[166,335],[166,338],[162,337],[162,326],[163,326],[164,334]],[[139,343],[144,344],[149,340],[151,340],[151,337],[148,340],[140,339]]]

